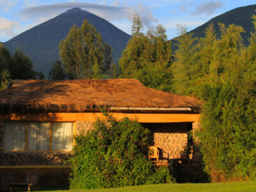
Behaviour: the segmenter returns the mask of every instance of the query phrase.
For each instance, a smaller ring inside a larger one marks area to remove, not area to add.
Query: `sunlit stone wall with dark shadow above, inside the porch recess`
[[[152,145],[160,149],[160,157],[162,156],[163,159],[188,157],[186,147],[188,147],[188,131],[191,130],[191,124],[170,123],[141,125],[147,127],[152,132],[154,137]]]

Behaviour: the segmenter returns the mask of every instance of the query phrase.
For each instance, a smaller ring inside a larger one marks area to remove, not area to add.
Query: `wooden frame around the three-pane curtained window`
[[[7,122],[7,121],[6,121]],[[74,139],[74,136],[76,135],[76,122],[75,121],[72,121],[72,122],[68,122],[68,121],[8,121],[8,122],[25,122],[25,150],[6,150],[4,149],[3,151],[4,152],[70,152],[72,150],[52,150],[52,123],[58,123],[58,122],[61,122],[61,123],[72,123],[72,144],[73,144],[73,147],[74,145],[76,144],[76,141]],[[50,130],[49,130],[49,134],[50,134],[50,137],[49,137],[49,150],[28,150],[28,124],[29,122],[47,122],[47,123],[50,123]],[[4,126],[5,126],[5,122],[4,122]],[[3,141],[4,141],[4,134],[3,134]],[[4,146],[4,143],[3,143],[3,146]]]

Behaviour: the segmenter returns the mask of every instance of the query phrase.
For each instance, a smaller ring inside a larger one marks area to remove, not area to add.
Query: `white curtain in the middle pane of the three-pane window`
[[[29,122],[28,124],[28,150],[49,150],[50,123]]]

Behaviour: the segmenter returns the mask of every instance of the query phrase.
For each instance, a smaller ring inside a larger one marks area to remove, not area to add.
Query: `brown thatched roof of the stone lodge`
[[[147,88],[136,79],[13,80],[0,91],[0,111],[86,111],[115,108],[197,108],[200,100]]]

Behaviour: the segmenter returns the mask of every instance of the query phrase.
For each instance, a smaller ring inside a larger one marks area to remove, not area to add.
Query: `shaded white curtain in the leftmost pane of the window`
[[[26,122],[4,123],[4,149],[25,150]]]

